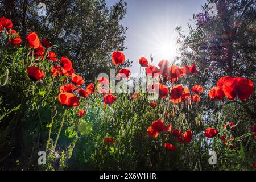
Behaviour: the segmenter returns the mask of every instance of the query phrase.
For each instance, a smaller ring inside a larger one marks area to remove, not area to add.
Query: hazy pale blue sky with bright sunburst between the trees
[[[108,6],[118,0],[106,0]],[[149,59],[152,53],[154,64],[160,60],[173,60],[176,52],[176,26],[187,32],[187,23],[200,12],[207,0],[126,0],[127,14],[121,21],[129,29],[123,51],[133,61],[132,73],[139,73],[140,57]],[[192,23],[192,22],[191,22]]]

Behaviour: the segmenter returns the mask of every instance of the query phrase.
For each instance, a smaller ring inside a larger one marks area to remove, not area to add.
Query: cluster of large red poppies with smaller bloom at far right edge
[[[224,76],[218,80],[217,86],[210,89],[208,96],[217,100],[224,100],[224,97],[234,100],[236,96],[240,100],[247,100],[253,91],[253,81],[250,79]]]

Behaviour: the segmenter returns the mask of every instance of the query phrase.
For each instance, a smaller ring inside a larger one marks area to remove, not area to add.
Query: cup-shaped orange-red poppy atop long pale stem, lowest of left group
[[[69,92],[60,93],[58,96],[58,100],[60,104],[63,106],[67,106],[67,107],[79,106],[79,98]]]

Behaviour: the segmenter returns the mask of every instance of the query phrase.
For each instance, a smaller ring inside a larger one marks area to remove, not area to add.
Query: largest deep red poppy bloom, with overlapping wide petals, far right
[[[240,100],[247,100],[254,91],[253,81],[241,77],[225,76],[218,80],[217,85],[229,100],[234,100],[236,96]]]

